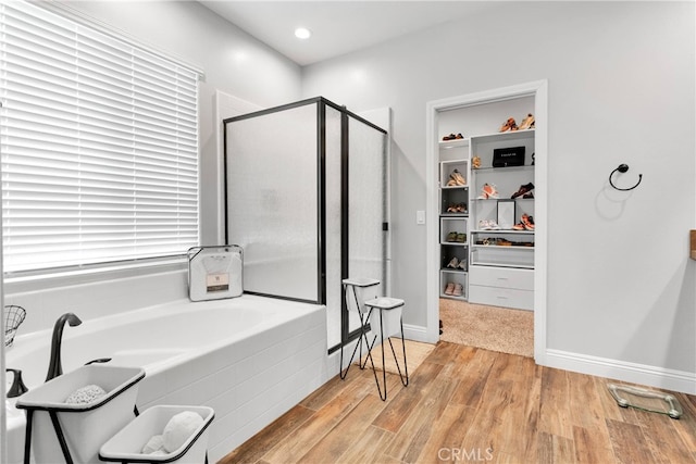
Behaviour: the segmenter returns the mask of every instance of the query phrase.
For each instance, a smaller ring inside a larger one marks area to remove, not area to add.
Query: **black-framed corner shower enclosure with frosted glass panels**
[[[330,352],[357,338],[341,280],[386,290],[386,131],[322,97],[223,123],[226,240],[244,249],[245,292],[325,304]]]

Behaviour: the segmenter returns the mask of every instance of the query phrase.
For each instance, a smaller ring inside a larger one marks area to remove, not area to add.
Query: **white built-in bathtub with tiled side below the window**
[[[51,330],[18,336],[7,350],[5,366],[22,369],[29,389],[46,378]],[[331,376],[326,350],[324,306],[245,294],[65,326],[61,351],[63,372],[101,358],[144,367],[140,411],[158,404],[212,407],[213,463],[319,388]],[[24,412],[13,400],[5,403],[9,461],[21,463]]]

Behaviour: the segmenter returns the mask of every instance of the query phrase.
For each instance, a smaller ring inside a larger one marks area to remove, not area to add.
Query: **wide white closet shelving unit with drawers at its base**
[[[534,185],[534,129],[474,136],[469,147],[480,159],[470,172],[469,301],[533,310],[534,228],[523,227],[522,217],[533,222],[534,190],[511,197]],[[494,167],[494,150],[511,147],[524,147],[524,165]],[[495,188],[493,198],[485,185]]]

